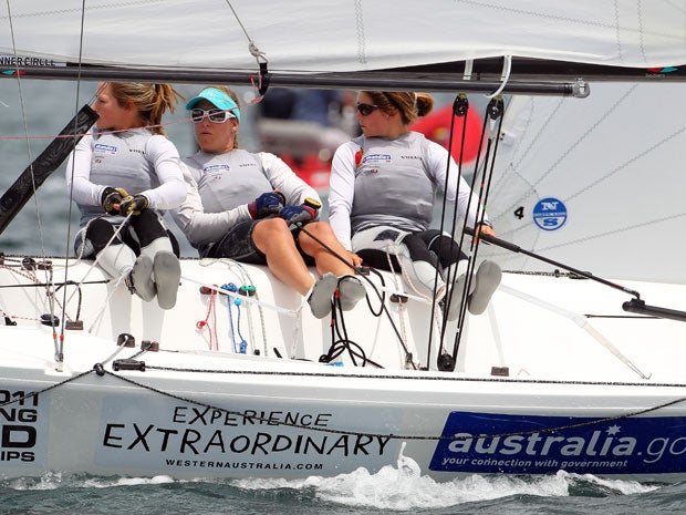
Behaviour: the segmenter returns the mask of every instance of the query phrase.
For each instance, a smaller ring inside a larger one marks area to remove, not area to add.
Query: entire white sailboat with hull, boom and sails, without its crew
[[[412,463],[437,481],[683,481],[686,32],[673,9],[3,3],[2,76],[20,91],[132,80],[489,94],[486,114],[508,102],[474,169],[498,237],[471,257],[505,270],[478,317],[445,322],[399,275],[370,270],[367,302],[316,320],[267,268],[196,258],[165,312],[93,262],[3,255],[0,475],[297,478]],[[93,123],[87,105],[74,112],[0,198],[3,230]]]

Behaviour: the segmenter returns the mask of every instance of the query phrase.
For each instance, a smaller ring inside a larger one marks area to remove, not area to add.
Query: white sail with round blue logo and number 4
[[[686,282],[683,86],[597,83],[591,91],[584,100],[512,97],[488,197],[498,234],[594,275]],[[506,268],[554,268],[496,254]]]

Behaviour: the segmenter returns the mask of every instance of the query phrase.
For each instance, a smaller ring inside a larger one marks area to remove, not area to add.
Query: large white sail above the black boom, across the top
[[[139,66],[254,69],[250,42],[294,72],[500,55],[686,63],[684,8],[666,1],[10,0],[0,27],[0,54]]]

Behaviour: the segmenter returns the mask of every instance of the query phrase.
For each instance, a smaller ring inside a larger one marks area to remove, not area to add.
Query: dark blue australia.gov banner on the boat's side
[[[429,470],[506,474],[559,470],[580,474],[686,472],[685,416],[599,420],[451,412],[443,436],[455,440],[438,442]]]

